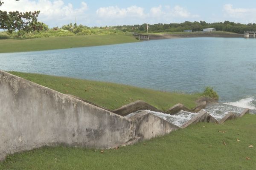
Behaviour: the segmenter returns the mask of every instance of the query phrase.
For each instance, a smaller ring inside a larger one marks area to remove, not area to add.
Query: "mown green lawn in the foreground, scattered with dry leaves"
[[[167,136],[103,153],[78,147],[42,147],[8,156],[0,163],[0,169],[253,170],[255,129],[256,115],[245,115],[223,125],[198,123]]]

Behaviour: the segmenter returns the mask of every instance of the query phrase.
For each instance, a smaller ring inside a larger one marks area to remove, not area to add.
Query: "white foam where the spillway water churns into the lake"
[[[253,101],[256,101],[255,97],[248,97],[248,98],[236,101],[236,102],[226,102],[224,104],[233,105],[233,106],[236,106],[236,107],[239,107],[239,108],[249,108],[251,110],[255,110],[256,106],[253,105]]]

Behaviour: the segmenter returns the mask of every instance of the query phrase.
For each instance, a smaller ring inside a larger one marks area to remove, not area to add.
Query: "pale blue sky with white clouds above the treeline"
[[[256,23],[256,0],[2,0],[2,11],[35,11],[50,28],[201,21]]]

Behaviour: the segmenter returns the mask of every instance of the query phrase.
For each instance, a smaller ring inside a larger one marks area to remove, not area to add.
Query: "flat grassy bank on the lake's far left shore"
[[[135,37],[131,35],[122,34],[48,37],[26,40],[9,39],[0,40],[0,53],[53,50],[96,45],[120,44],[138,41],[139,40],[136,40]]]

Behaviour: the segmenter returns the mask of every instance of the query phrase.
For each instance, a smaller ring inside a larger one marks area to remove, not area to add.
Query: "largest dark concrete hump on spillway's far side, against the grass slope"
[[[144,101],[137,100],[135,102],[124,105],[121,108],[113,110],[113,113],[119,114],[121,116],[127,116],[130,113],[134,113],[134,112],[140,111],[140,110],[150,110],[150,111],[162,112],[162,111],[158,110],[157,108],[155,108],[154,106],[151,106]]]

